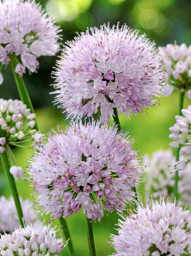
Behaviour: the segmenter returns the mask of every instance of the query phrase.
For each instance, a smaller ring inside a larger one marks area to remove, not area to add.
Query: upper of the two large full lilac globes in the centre
[[[119,24],[105,24],[69,41],[54,73],[55,103],[68,116],[92,116],[100,107],[101,121],[118,114],[142,112],[161,94],[162,65],[154,42]]]

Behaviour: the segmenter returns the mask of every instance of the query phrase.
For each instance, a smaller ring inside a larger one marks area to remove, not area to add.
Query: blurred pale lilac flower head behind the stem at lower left
[[[36,220],[37,215],[34,212],[33,202],[19,198],[23,217],[26,223],[29,220]],[[12,233],[15,228],[19,228],[19,219],[15,207],[13,197],[6,199],[4,196],[0,197],[0,232]]]

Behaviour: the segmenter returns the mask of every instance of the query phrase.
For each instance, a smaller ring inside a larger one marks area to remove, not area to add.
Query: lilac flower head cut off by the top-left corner
[[[25,68],[36,72],[39,56],[59,50],[59,27],[34,0],[0,0],[0,24],[0,62],[7,65],[11,54],[19,56],[15,72],[21,76]]]

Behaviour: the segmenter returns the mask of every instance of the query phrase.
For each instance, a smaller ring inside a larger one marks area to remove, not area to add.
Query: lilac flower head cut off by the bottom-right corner
[[[111,235],[115,256],[190,255],[190,211],[164,200],[136,211],[119,220],[118,235]]]

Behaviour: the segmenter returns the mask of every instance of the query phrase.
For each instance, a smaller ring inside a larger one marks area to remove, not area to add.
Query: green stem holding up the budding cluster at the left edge
[[[1,158],[1,161],[2,161],[3,168],[5,170],[6,178],[9,182],[9,185],[10,185],[10,188],[11,188],[13,199],[15,201],[15,206],[16,206],[16,211],[18,213],[19,223],[22,227],[24,227],[23,212],[22,212],[22,209],[21,209],[21,204],[20,204],[20,201],[19,201],[19,196],[18,196],[15,180],[13,178],[13,175],[10,173],[10,165],[9,165],[9,161],[8,161],[8,157],[7,157],[7,152],[5,151],[4,153],[1,153],[0,158]]]

